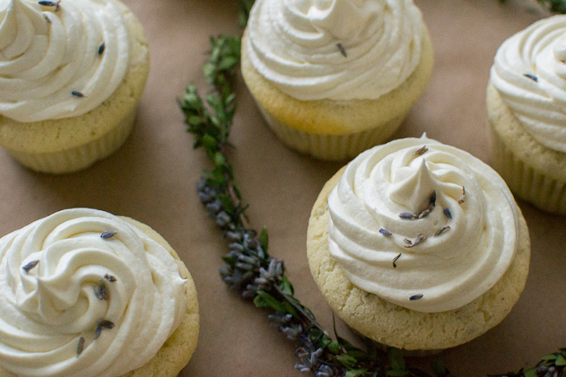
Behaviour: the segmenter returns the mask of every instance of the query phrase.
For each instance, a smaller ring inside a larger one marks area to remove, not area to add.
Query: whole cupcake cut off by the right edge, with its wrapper
[[[492,165],[516,197],[566,214],[566,16],[503,42],[487,86]]]

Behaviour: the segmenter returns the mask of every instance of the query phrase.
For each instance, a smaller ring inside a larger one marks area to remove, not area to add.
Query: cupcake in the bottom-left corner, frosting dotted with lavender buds
[[[174,377],[198,329],[195,284],[149,226],[79,208],[0,238],[0,376]]]

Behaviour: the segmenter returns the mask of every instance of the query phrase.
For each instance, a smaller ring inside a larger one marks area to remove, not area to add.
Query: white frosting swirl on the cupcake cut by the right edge
[[[533,23],[495,55],[490,80],[526,132],[566,153],[566,16]]]

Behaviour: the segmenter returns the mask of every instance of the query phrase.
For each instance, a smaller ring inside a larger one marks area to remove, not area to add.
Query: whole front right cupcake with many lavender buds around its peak
[[[497,325],[524,289],[530,250],[504,180],[424,136],[354,158],[308,222],[308,263],[333,310],[410,350],[454,347]]]

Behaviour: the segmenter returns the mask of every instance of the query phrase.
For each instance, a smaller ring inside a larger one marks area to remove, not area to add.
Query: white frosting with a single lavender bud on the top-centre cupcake
[[[298,100],[376,99],[415,70],[423,29],[412,0],[257,0],[248,56]]]

